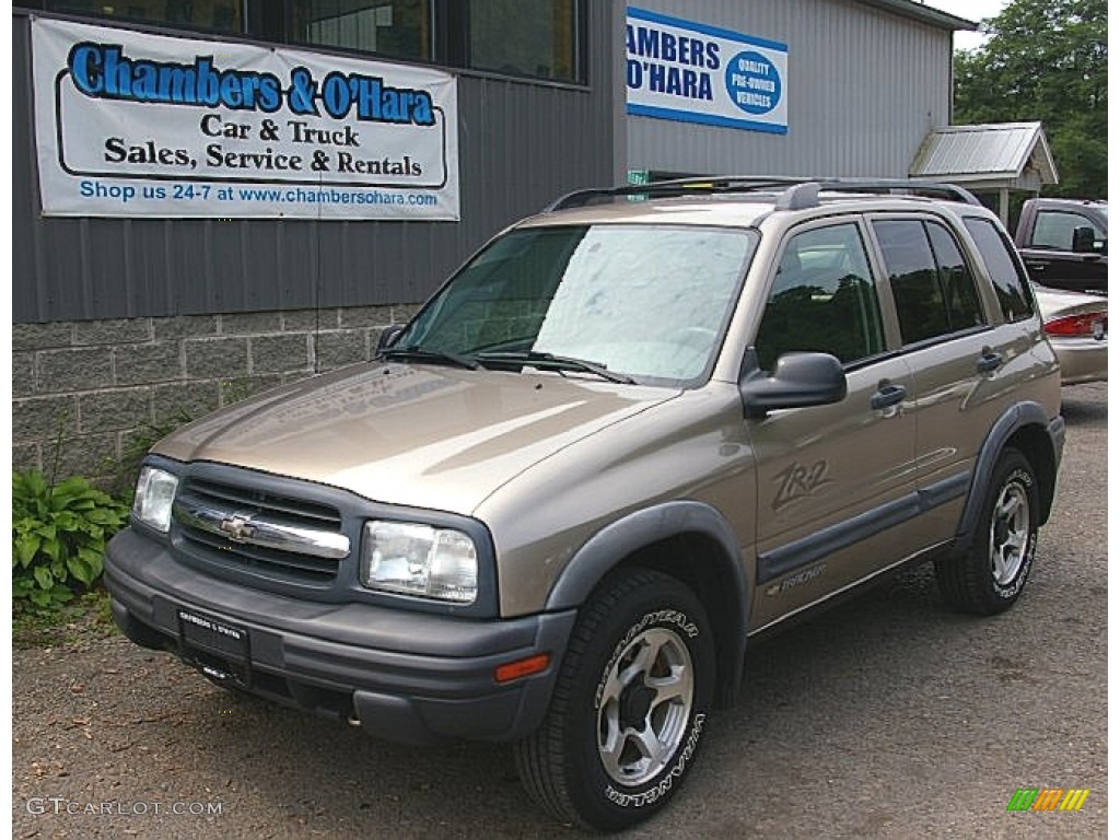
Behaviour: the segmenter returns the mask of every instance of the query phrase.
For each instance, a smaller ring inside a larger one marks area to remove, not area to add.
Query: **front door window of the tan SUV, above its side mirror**
[[[794,235],[778,261],[755,342],[763,370],[783,353],[831,353],[849,364],[886,349],[864,240],[855,223]]]

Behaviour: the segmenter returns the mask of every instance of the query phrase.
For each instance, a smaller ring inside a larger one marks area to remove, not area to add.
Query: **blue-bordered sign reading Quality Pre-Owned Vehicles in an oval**
[[[784,134],[788,47],[626,9],[626,113]]]

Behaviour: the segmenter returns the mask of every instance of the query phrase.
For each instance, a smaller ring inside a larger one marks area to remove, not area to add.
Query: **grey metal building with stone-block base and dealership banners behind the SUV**
[[[13,461],[86,475],[169,417],[368,360],[564,192],[906,177],[971,28],[911,0],[24,0],[12,22]]]

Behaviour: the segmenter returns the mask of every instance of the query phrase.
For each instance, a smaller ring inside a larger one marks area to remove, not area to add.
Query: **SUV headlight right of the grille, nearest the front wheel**
[[[367,522],[362,585],[386,592],[472,604],[478,552],[461,531],[412,522]]]

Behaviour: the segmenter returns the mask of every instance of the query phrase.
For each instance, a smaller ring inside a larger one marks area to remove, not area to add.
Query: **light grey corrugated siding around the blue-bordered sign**
[[[855,0],[637,0],[638,8],[782,41],[787,134],[627,118],[632,169],[906,177],[950,121],[952,32]]]

